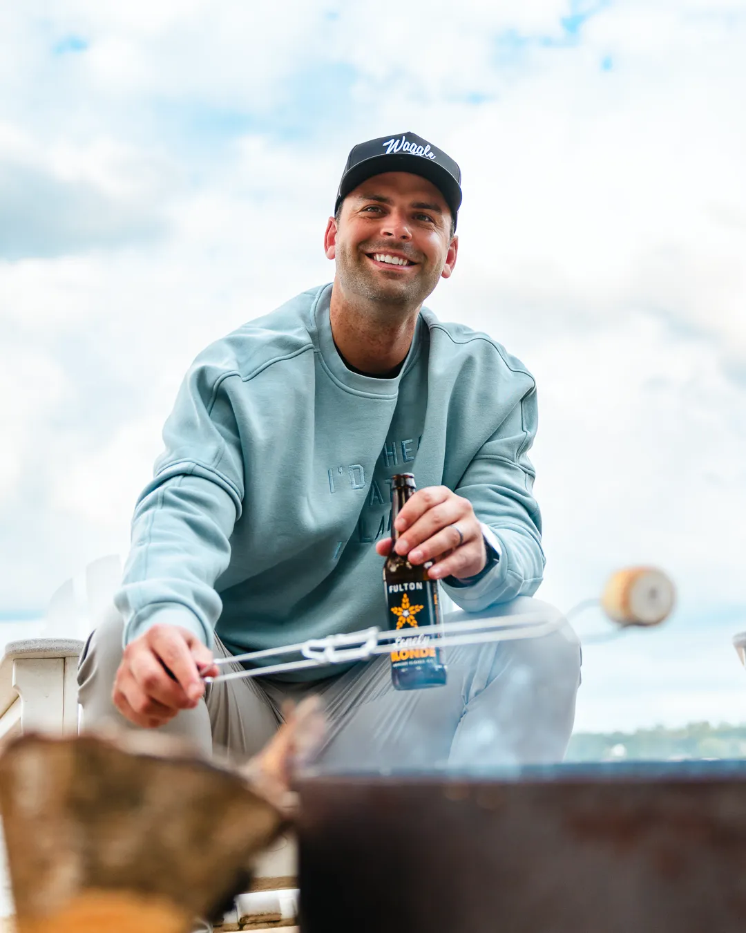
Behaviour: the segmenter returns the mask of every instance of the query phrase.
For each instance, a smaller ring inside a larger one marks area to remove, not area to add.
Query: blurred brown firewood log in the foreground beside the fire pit
[[[157,733],[8,745],[0,810],[19,933],[185,933],[222,916],[282,831],[291,760],[322,729],[301,704],[242,773]]]

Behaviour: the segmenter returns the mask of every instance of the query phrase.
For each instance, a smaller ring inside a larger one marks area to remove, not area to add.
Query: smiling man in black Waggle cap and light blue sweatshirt
[[[562,757],[580,654],[559,613],[531,598],[544,568],[534,382],[490,337],[422,306],[455,267],[461,200],[458,165],[421,137],[355,146],[325,232],[334,283],[197,358],[135,509],[117,611],[81,661],[88,725],[118,716],[245,757],[277,729],[284,699],[317,692],[328,765]],[[419,490],[397,551],[434,560],[431,578],[467,613],[529,611],[556,630],[448,649],[437,689],[395,691],[383,656],[205,691],[214,654],[386,625],[400,472]]]

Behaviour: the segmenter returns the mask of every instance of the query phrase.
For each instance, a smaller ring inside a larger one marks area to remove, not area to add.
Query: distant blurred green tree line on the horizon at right
[[[670,761],[746,759],[746,725],[692,722],[682,729],[635,732],[576,732],[567,761]]]

